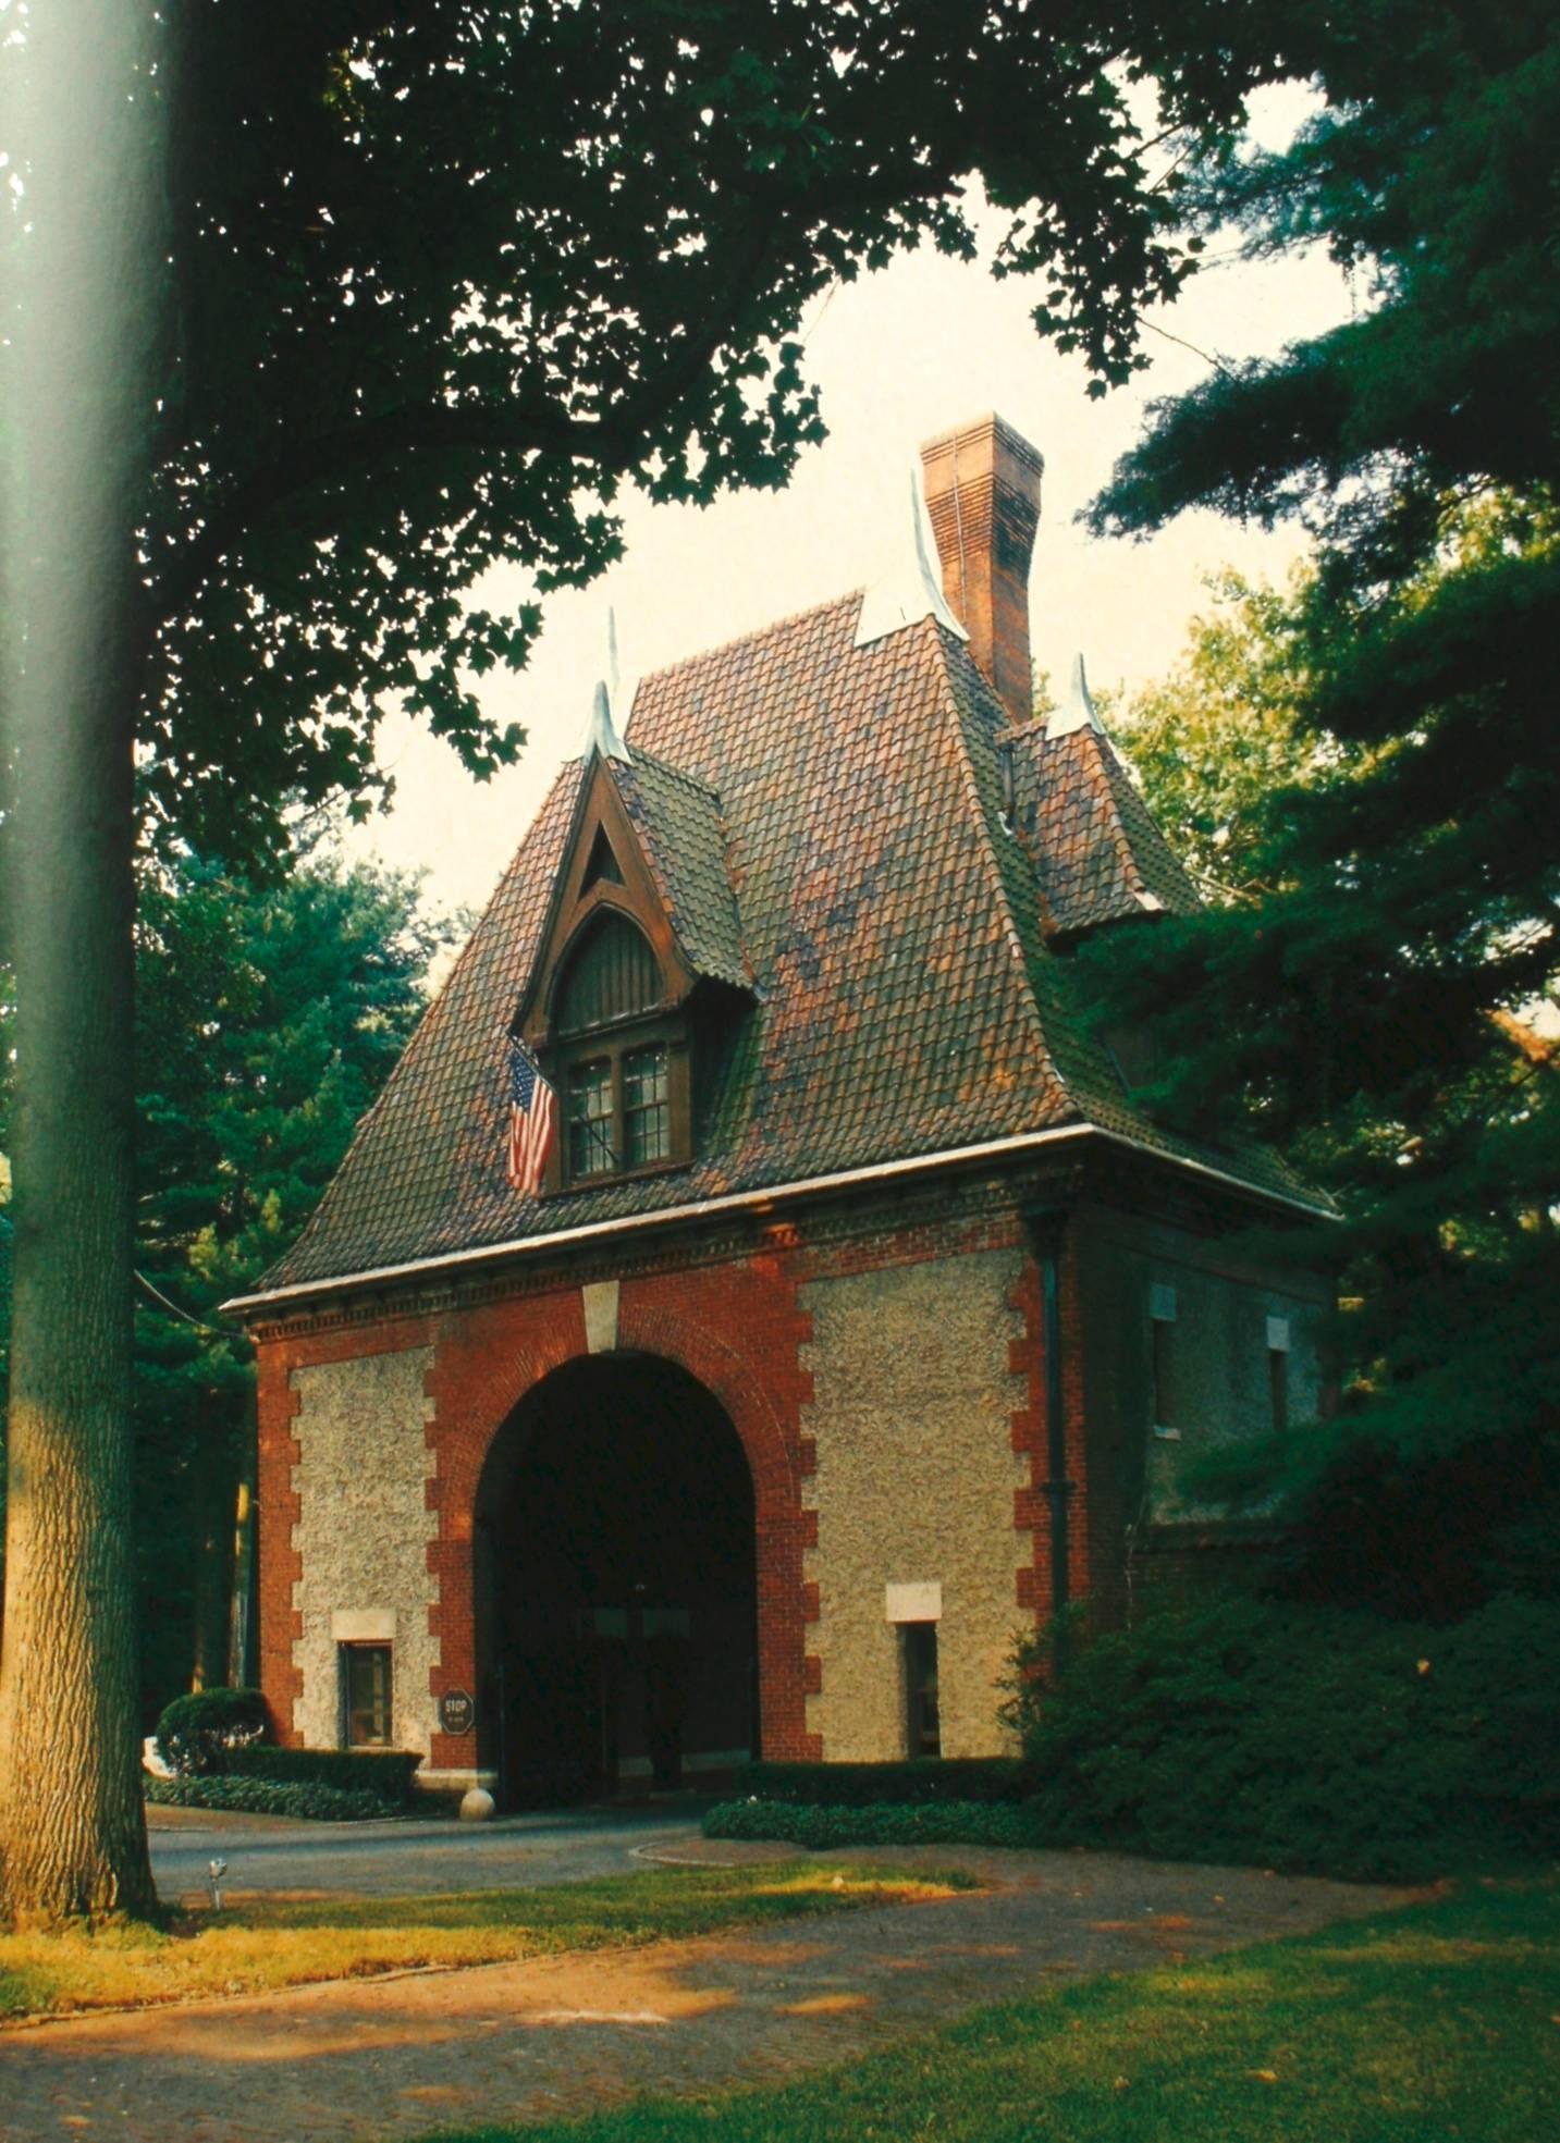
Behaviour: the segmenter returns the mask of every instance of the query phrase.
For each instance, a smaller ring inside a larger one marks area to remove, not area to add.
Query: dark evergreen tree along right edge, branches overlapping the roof
[[[1153,1022],[1183,1127],[1256,1127],[1339,1198],[1292,1249],[1346,1269],[1344,1427],[1436,1466],[1560,1421],[1560,26],[1367,0],[1294,36],[1324,109],[1187,206],[1249,253],[1326,244],[1363,302],[1161,405],[1093,508],[1305,516],[1314,572],[1245,615],[1232,669],[1204,634],[1157,709],[1204,769],[1251,722],[1292,722],[1294,759],[1245,819],[1251,898],[1110,934],[1080,984],[1104,1022]],[[1149,726],[1168,831],[1217,829],[1226,776],[1179,789]]]

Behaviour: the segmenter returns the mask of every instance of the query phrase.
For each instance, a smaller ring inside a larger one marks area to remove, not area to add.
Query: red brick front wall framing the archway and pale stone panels
[[[776,1226],[741,1256],[649,1271],[621,1282],[617,1307],[619,1348],[641,1348],[688,1369],[726,1410],[748,1455],[759,1532],[759,1695],[763,1751],[774,1759],[821,1759],[819,1736],[806,1727],[806,1693],[819,1687],[821,1663],[808,1652],[816,1620],[816,1588],[804,1586],[804,1549],[814,1545],[816,1513],[801,1507],[801,1481],[812,1472],[812,1438],[804,1408],[812,1378],[799,1348],[810,1339],[810,1318],[797,1305],[804,1279],[829,1271],[861,1271],[921,1258],[947,1258],[1022,1241],[1014,1211],[979,1217],[928,1219],[874,1234],[808,1243],[793,1226]],[[1095,1582],[1091,1558],[1091,1496],[1086,1479],[1086,1421],[1078,1346],[1078,1288],[1071,1256],[1063,1258],[1063,1389],[1067,1410],[1069,1477],[1074,1481],[1071,1592],[1084,1597]],[[1033,1262],[1016,1294],[1024,1337],[1014,1342],[1014,1372],[1029,1382],[1029,1402],[1014,1414],[1014,1449],[1031,1455],[1031,1485],[1014,1509],[1018,1605],[1044,1616],[1050,1609],[1050,1507],[1044,1496],[1046,1363],[1039,1275]],[[433,1346],[429,1376],[433,1419],[433,1479],[429,1502],[437,1537],[429,1545],[429,1573],[437,1579],[431,1631],[439,1646],[433,1697],[446,1689],[478,1687],[474,1603],[474,1515],[482,1466],[493,1436],[544,1376],[585,1352],[581,1288],[570,1282],[546,1292],[514,1294],[465,1309],[416,1318],[362,1322],[326,1331],[298,1329],[259,1348],[259,1588],[261,1687],[283,1740],[291,1740],[291,1706],[300,1676],[294,1639],[294,1582],[300,1575],[291,1528],[298,1517],[291,1468],[298,1464],[294,1417],[298,1395],[291,1372],[324,1361],[347,1361],[409,1346]],[[433,1588],[431,1588],[433,1592]],[[433,1738],[433,1768],[469,1768],[469,1738]]]

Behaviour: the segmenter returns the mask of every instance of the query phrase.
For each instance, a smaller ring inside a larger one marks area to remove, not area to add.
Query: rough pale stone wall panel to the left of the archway
[[[336,1616],[394,1616],[394,1740],[431,1747],[437,1644],[429,1603],[433,1451],[426,1423],[431,1348],[317,1363],[291,1374],[298,1393],[294,1549],[300,1575],[294,1665],[302,1678],[291,1725],[309,1749],[341,1742]]]

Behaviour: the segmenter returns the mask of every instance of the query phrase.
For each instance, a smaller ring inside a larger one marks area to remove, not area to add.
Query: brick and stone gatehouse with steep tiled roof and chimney
[[[992,1753],[1018,1633],[1127,1614],[1221,1539],[1189,1464],[1320,1406],[1331,1279],[1241,1247],[1314,1194],[1076,1003],[1198,896],[1082,664],[1033,714],[1039,454],[921,463],[896,583],[598,694],[231,1305],[285,1742],[510,1804]]]

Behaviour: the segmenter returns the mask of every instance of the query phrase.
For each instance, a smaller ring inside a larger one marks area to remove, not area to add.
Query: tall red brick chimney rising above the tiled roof
[[[1044,467],[1029,439],[999,416],[979,416],[921,448],[947,606],[1014,722],[1026,722],[1033,703],[1029,555]]]

